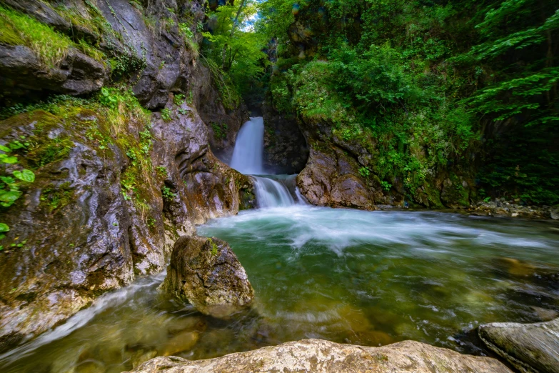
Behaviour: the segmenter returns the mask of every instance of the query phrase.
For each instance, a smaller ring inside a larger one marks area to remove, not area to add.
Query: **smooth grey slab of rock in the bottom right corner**
[[[480,326],[479,334],[520,372],[559,372],[559,319],[535,324],[495,322]]]

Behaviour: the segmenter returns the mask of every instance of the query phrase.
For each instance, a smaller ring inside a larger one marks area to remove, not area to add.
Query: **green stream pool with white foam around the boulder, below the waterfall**
[[[478,324],[559,311],[555,222],[293,205],[214,219],[198,234],[231,245],[253,311],[205,317],[160,294],[158,274],[0,356],[1,372],[121,372],[159,355],[206,359],[303,338],[480,354]]]

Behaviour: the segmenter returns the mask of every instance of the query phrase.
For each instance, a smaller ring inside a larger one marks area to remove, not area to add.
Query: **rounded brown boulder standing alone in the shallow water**
[[[249,307],[254,297],[231,247],[216,238],[179,238],[162,287],[203,314],[221,318]]]

